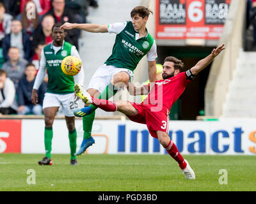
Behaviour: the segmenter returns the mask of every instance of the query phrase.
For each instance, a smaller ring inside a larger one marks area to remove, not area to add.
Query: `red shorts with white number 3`
[[[154,111],[151,105],[141,103],[131,103],[138,110],[138,114],[134,116],[126,115],[130,120],[142,124],[147,124],[148,131],[151,136],[157,138],[156,131],[168,133],[168,109],[163,107],[160,111]]]

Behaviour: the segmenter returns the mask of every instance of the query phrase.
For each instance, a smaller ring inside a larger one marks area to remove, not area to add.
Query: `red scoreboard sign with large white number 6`
[[[218,40],[230,0],[156,0],[156,39]]]

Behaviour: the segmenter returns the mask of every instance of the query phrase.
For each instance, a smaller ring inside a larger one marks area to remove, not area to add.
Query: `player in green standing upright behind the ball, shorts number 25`
[[[76,76],[65,75],[61,70],[61,61],[68,55],[76,56],[80,59],[75,46],[64,40],[67,32],[61,29],[61,24],[54,24],[52,27],[52,43],[43,48],[41,52],[40,68],[36,75],[33,86],[31,101],[34,105],[38,103],[36,91],[44,80],[45,71],[48,74],[47,91],[44,96],[43,110],[45,120],[44,143],[45,157],[38,161],[40,165],[51,165],[52,150],[52,124],[54,117],[60,106],[65,114],[68,128],[68,138],[70,142],[70,164],[77,165],[76,159],[76,138],[75,117],[73,110],[78,108],[74,98],[74,82],[84,83],[83,68]]]

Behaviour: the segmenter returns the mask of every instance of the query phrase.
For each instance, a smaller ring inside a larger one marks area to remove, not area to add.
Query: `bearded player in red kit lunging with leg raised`
[[[210,55],[198,61],[193,68],[186,72],[181,72],[184,66],[182,61],[175,57],[166,57],[163,64],[163,80],[157,80],[151,85],[148,84],[141,87],[129,85],[129,93],[132,95],[148,94],[148,97],[142,103],[132,103],[129,101],[113,102],[93,98],[78,84],[75,85],[75,92],[86,104],[93,104],[107,112],[118,110],[134,122],[147,124],[150,135],[158,138],[168,154],[179,163],[186,179],[195,179],[195,173],[189,166],[188,161],[182,157],[175,143],[170,140],[168,135],[168,113],[189,82],[208,66],[223,49],[225,49],[224,44],[213,49]]]

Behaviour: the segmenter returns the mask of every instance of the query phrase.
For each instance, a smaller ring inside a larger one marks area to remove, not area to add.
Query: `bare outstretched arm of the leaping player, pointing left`
[[[108,25],[99,25],[99,24],[70,24],[66,22],[61,25],[63,29],[81,29],[90,33],[108,33]]]

